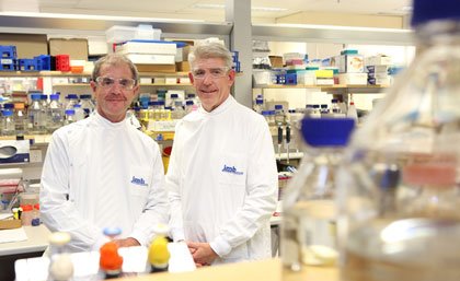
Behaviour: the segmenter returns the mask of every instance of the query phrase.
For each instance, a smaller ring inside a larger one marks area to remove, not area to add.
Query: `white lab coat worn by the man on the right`
[[[176,126],[166,175],[173,238],[208,242],[214,264],[271,257],[278,186],[265,119],[229,96]]]

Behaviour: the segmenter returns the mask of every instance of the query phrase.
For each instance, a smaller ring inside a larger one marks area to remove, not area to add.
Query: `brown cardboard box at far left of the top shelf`
[[[48,55],[46,34],[0,33],[0,45],[16,46],[18,58],[32,59],[35,56]]]

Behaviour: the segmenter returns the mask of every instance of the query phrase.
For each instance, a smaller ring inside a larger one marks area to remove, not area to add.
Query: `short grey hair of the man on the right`
[[[210,58],[222,59],[229,69],[233,67],[231,52],[222,44],[207,40],[203,40],[193,47],[192,52],[188,54],[188,63],[191,65],[191,69],[193,69],[197,59]]]

